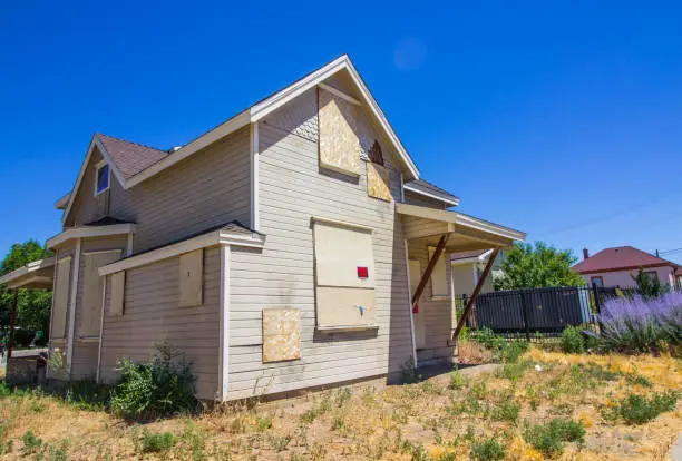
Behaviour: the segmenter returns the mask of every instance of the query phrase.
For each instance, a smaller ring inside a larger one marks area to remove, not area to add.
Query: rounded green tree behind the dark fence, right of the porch
[[[505,252],[501,275],[494,281],[495,290],[584,285],[583,277],[571,271],[576,261],[571,251],[559,251],[544,242],[536,242],[535,246],[516,244]]]

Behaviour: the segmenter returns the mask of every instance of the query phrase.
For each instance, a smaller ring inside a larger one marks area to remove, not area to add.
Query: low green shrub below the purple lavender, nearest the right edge
[[[607,420],[622,418],[626,424],[644,424],[659,414],[673,411],[678,403],[679,392],[654,392],[651,399],[644,395],[627,394],[611,409],[603,411]]]

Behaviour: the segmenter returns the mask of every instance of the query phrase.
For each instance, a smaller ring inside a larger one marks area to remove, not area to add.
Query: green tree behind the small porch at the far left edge
[[[27,265],[30,262],[51,256],[51,252],[38,242],[29,239],[22,244],[11,246],[9,253],[0,264],[0,275]],[[13,291],[0,287],[0,327],[9,331],[12,312]],[[41,290],[19,290],[17,303],[17,326],[31,332],[41,331],[47,340],[50,324],[50,307],[52,293]]]

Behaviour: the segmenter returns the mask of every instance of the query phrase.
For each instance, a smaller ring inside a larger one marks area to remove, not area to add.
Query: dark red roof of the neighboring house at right
[[[654,256],[650,253],[632,246],[616,246],[604,248],[593,256],[583,259],[573,266],[578,274],[591,274],[596,272],[613,272],[639,269],[640,267],[678,267],[675,263]]]

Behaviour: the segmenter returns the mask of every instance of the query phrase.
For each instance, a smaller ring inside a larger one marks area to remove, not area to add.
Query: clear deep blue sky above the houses
[[[344,52],[464,213],[682,247],[682,7],[506,3],[2,1],[0,253],[60,230],[94,131],[182,145]]]

